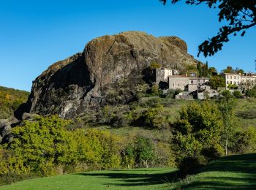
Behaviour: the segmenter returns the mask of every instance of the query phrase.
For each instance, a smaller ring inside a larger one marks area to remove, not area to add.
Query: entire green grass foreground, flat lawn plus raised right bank
[[[0,189],[255,189],[256,153],[212,161],[175,182],[174,168],[106,170],[23,180]]]

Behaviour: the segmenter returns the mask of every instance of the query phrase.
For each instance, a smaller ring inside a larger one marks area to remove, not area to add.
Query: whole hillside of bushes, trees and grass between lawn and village
[[[20,123],[12,141],[0,145],[1,184],[136,167],[176,166],[186,177],[225,153],[256,151],[255,99],[223,91],[219,99],[189,102],[173,99],[178,91],[162,96],[155,86],[138,88],[137,101],[107,105],[74,121],[51,115]]]

